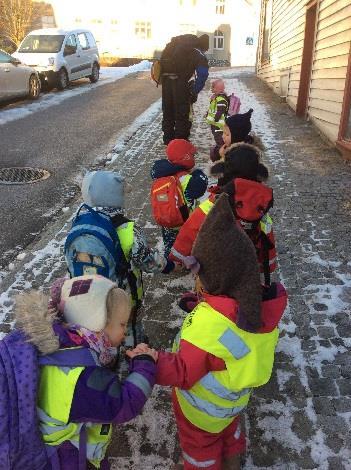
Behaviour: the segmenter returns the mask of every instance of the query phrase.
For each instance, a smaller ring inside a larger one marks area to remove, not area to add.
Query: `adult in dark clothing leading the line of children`
[[[197,100],[208,77],[204,54],[209,36],[184,34],[172,38],[161,56],[162,131],[167,145],[173,139],[188,139],[191,129],[190,106]],[[195,80],[190,81],[195,74]]]

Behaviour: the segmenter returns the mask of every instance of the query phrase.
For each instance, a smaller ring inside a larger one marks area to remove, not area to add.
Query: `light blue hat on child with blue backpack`
[[[113,171],[92,171],[84,176],[82,197],[91,207],[124,207],[124,179]]]

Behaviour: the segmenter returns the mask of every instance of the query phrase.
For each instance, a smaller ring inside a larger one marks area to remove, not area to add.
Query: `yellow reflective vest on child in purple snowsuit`
[[[111,440],[112,427],[104,424],[72,423],[69,415],[77,380],[84,367],[43,366],[38,391],[40,430],[46,445],[58,446],[70,441],[79,449],[80,431],[87,433],[87,459],[100,467]]]

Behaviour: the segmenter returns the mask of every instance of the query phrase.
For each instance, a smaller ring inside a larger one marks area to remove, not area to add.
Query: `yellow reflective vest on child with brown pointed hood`
[[[205,302],[184,320],[173,351],[184,339],[222,359],[223,371],[209,372],[190,390],[176,388],[185,417],[207,432],[227,427],[246,406],[251,389],[266,383],[272,372],[278,329],[258,334],[240,330]]]

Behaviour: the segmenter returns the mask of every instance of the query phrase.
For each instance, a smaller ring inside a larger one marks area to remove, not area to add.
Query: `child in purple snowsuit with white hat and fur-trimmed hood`
[[[123,382],[110,369],[126,333],[129,296],[87,275],[55,282],[49,308],[39,292],[16,304],[18,328],[41,353],[38,424],[50,469],[108,470],[112,424],[139,415],[155,382],[157,352],[145,344],[142,353],[127,352],[133,359]]]

